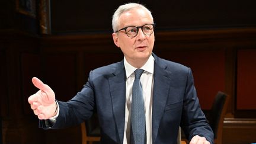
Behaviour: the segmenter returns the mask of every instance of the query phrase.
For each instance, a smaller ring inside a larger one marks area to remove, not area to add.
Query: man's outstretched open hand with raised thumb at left
[[[36,77],[32,78],[32,82],[35,87],[39,88],[36,94],[28,97],[28,103],[30,103],[34,114],[36,114],[40,120],[46,120],[56,116],[57,104],[53,90]]]

